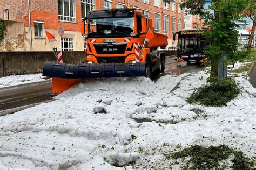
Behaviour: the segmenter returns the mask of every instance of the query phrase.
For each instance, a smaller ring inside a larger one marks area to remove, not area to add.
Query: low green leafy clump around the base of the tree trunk
[[[192,95],[187,98],[187,102],[190,104],[222,107],[235,98],[240,91],[234,80],[226,79],[220,83],[211,83],[196,88]]]

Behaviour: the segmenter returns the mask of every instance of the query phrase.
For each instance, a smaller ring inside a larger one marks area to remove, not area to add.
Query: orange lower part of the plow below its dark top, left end
[[[52,77],[52,93],[51,96],[56,96],[63,91],[68,90],[77,83],[82,82],[83,79],[64,79]]]

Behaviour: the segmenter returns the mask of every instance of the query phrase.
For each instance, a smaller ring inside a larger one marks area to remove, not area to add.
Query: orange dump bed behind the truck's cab
[[[168,36],[154,32],[154,37],[149,42],[150,48],[166,47]]]

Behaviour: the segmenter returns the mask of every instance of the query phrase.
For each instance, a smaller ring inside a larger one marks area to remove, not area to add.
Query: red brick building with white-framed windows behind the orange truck
[[[6,22],[0,51],[30,51],[29,13],[33,51],[51,51],[44,29],[56,35],[58,42],[53,42],[52,46],[62,47],[65,51],[83,51],[85,45],[80,26],[82,18],[92,9],[127,6],[143,10],[153,19],[156,32],[169,35],[169,47],[176,46],[172,34],[185,26],[184,12],[179,8],[180,0],[170,4],[163,0],[33,0],[29,5],[28,2],[0,0],[0,18],[15,21]],[[190,24],[191,27],[203,26],[197,16],[192,17]],[[65,30],[63,38],[58,36],[58,26],[63,26]]]

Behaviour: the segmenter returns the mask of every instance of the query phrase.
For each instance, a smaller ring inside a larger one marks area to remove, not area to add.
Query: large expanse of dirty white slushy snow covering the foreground
[[[90,80],[56,101],[0,117],[0,168],[168,168],[173,162],[163,153],[177,144],[225,144],[255,156],[256,89],[241,76],[242,93],[227,107],[187,104],[207,77]]]

